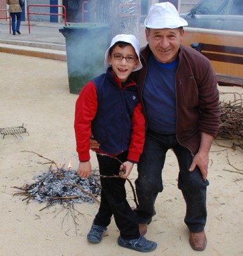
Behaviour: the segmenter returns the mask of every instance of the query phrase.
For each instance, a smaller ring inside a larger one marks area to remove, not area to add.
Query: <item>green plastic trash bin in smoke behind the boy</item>
[[[83,22],[59,29],[66,40],[70,93],[79,94],[94,77],[106,72],[104,56],[108,48],[108,24]]]

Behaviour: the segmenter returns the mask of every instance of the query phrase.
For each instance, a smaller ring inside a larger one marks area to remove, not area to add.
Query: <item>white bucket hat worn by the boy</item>
[[[139,58],[139,52],[140,52],[139,40],[137,40],[137,38],[134,35],[125,35],[125,34],[116,35],[113,37],[113,40],[111,40],[111,45],[107,49],[106,54],[105,54],[105,61],[104,61],[105,68],[108,68],[111,66],[111,65],[109,65],[109,60],[108,60],[109,50],[111,49],[111,47],[113,47],[114,44],[116,44],[116,42],[126,42],[126,43],[131,44],[132,47],[134,47],[134,50],[137,54],[139,63],[137,64],[137,67],[134,68],[134,70],[132,70],[132,72],[141,69],[143,67],[143,65]]]

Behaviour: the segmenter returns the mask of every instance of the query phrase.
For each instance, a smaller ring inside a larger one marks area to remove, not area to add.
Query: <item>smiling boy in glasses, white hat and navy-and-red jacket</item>
[[[87,239],[99,243],[114,215],[120,230],[118,244],[138,252],[151,252],[157,243],[140,236],[137,216],[125,191],[125,179],[138,162],[145,141],[145,119],[137,99],[137,84],[129,79],[131,72],[142,68],[139,50],[135,36],[114,36],[105,54],[106,74],[88,82],[77,99],[74,129],[80,161],[77,173],[81,177],[88,178],[91,173],[91,134],[100,143],[100,175],[120,175],[120,169],[125,169],[119,178],[100,177],[100,208]]]

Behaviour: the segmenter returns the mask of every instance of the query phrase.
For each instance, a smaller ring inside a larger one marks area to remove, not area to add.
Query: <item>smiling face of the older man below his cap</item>
[[[178,49],[184,37],[184,30],[146,29],[146,40],[155,59],[161,63],[169,63],[176,59]]]

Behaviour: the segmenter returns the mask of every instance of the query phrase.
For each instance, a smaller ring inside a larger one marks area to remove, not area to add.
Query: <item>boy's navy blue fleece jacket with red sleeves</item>
[[[88,82],[75,106],[75,138],[79,161],[90,160],[90,136],[100,143],[98,152],[116,156],[129,150],[137,163],[145,142],[145,118],[137,97],[137,84],[121,83],[111,68]]]

